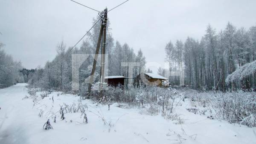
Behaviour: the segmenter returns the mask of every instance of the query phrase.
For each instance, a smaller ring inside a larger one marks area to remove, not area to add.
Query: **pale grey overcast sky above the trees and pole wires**
[[[125,0],[76,0],[102,11]],[[164,47],[186,37],[200,39],[210,23],[217,31],[230,21],[256,25],[256,0],[130,0],[108,13],[115,40],[140,48],[148,62],[163,63]],[[97,12],[70,0],[0,0],[0,42],[26,68],[44,66],[62,37],[73,46]],[[151,68],[154,69],[155,68]]]

